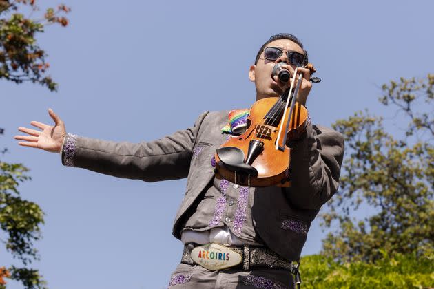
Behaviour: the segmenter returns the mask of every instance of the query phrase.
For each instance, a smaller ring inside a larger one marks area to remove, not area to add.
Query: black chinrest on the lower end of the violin
[[[217,149],[217,156],[230,171],[258,176],[258,171],[244,162],[245,154],[238,147],[220,147]]]

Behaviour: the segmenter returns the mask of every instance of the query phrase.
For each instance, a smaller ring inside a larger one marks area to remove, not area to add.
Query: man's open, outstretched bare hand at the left
[[[30,125],[42,129],[42,131],[19,127],[19,131],[28,134],[28,136],[14,137],[16,140],[24,140],[23,142],[18,142],[19,145],[43,149],[44,151],[50,151],[52,153],[61,152],[63,140],[66,136],[65,124],[59,116],[54,114],[52,109],[48,109],[48,114],[50,114],[51,118],[54,120],[55,125],[45,125],[42,122],[32,121]]]

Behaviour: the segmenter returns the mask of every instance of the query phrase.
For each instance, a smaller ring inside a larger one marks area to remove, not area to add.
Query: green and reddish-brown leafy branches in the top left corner
[[[68,25],[68,19],[59,15],[70,12],[70,8],[48,8],[41,19],[29,19],[17,13],[19,6],[26,6],[32,13],[39,10],[34,0],[0,0],[0,78],[14,83],[32,81],[56,90],[57,84],[45,76],[50,65],[35,36],[44,32],[46,25]]]

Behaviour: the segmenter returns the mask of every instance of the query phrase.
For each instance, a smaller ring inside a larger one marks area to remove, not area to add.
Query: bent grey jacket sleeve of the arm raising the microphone
[[[327,127],[307,125],[306,133],[293,142],[291,187],[285,189],[293,206],[318,209],[338,190],[344,156],[344,138]]]

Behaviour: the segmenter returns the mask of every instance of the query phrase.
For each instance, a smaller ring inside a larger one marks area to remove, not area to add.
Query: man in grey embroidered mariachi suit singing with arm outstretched
[[[297,100],[304,105],[311,89],[307,52],[291,34],[271,36],[258,51],[249,69],[256,100],[288,89],[289,81],[273,76],[278,63],[291,75],[299,67]],[[49,109],[54,126],[31,122],[42,131],[20,127],[30,136],[15,138],[23,146],[62,153],[66,166],[149,182],[187,177],[172,232],[185,248],[170,288],[293,288],[292,261],[300,259],[320,206],[338,189],[344,140],[336,131],[307,123],[291,142],[289,188],[239,186],[214,175],[216,149],[245,125],[245,111],[236,111],[237,121],[229,124],[227,113],[207,111],[194,127],[128,144],[67,134]]]

